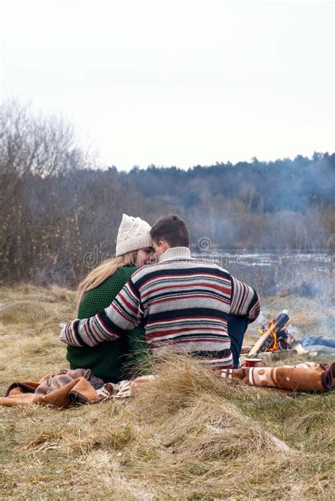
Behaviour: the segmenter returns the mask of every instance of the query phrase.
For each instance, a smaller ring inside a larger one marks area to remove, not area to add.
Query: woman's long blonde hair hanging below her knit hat
[[[112,257],[102,261],[102,263],[94,268],[88,273],[81,283],[78,285],[77,295],[76,295],[76,307],[80,305],[83,295],[91,289],[98,287],[100,283],[105,282],[107,278],[112,276],[115,271],[122,266],[127,266],[127,264],[134,264],[136,259],[137,251],[127,252],[127,254],[122,254],[121,256]]]

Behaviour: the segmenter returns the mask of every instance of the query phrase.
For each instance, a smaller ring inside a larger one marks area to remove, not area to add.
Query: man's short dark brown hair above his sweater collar
[[[189,229],[180,216],[170,214],[155,222],[150,232],[152,240],[165,240],[170,247],[189,247]]]

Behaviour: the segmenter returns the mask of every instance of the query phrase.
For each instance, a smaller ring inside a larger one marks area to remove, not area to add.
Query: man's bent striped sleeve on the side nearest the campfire
[[[232,279],[232,295],[230,301],[230,314],[247,317],[249,322],[254,322],[260,312],[259,295],[256,290],[246,283]]]

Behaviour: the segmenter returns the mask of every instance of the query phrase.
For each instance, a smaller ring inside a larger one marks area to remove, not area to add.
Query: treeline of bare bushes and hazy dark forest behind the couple
[[[178,213],[192,245],[334,249],[335,155],[189,170],[99,170],[63,120],[0,108],[0,281],[76,285],[113,254],[122,213]],[[208,249],[206,248],[208,251]]]

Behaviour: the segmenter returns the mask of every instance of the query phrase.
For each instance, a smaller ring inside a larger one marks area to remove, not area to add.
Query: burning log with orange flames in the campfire
[[[249,351],[248,356],[257,355],[257,353],[268,350],[286,350],[289,344],[289,336],[285,326],[289,319],[287,310],[283,310],[269,323],[266,329],[261,329],[261,337]]]

